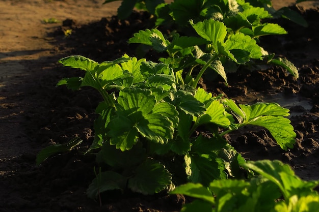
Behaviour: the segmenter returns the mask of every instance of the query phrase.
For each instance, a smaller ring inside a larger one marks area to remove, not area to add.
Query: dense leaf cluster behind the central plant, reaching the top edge
[[[179,28],[183,26],[179,31],[184,36],[177,32],[165,35],[152,28],[134,34],[128,42],[167,52],[168,57],[159,61],[170,64],[180,83],[196,87],[208,70],[220,75],[227,84],[226,74],[235,72],[240,65],[251,70],[260,65],[281,66],[298,78],[298,70],[291,62],[258,45],[261,36],[287,33],[278,24],[264,21],[273,16],[263,7],[244,1],[176,0],[156,9],[155,25],[172,22]]]

